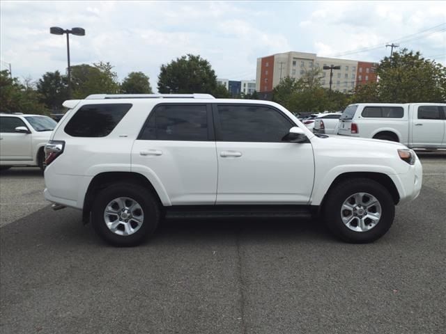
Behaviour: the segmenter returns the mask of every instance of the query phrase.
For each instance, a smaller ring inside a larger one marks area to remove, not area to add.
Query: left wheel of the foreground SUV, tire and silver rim
[[[114,246],[137,246],[155,232],[160,209],[150,191],[132,183],[102,189],[91,210],[95,231]]]

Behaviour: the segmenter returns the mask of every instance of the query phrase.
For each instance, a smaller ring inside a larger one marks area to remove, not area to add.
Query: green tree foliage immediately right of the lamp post
[[[110,63],[82,64],[71,67],[72,97],[84,99],[91,94],[119,93],[118,75]]]

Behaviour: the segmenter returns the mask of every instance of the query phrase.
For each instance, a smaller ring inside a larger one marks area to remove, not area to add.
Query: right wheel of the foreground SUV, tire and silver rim
[[[328,228],[344,241],[375,241],[390,229],[394,202],[389,191],[374,180],[357,178],[330,189],[323,215]]]

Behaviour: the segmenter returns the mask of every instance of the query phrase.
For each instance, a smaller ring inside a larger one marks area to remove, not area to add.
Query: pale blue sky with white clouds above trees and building
[[[446,65],[446,1],[5,1],[1,70],[37,81],[72,65],[109,62],[122,81],[144,72],[157,91],[162,64],[199,54],[217,77],[255,79],[256,59],[286,51],[379,62],[387,43]],[[397,50],[398,50],[397,49]]]

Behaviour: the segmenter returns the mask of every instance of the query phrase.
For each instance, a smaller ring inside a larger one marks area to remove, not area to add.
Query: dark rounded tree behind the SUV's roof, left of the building
[[[167,65],[158,75],[160,93],[222,93],[210,63],[200,56],[187,54]],[[215,94],[217,95],[217,94]]]

